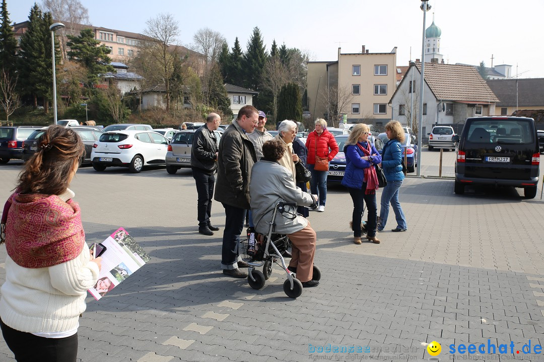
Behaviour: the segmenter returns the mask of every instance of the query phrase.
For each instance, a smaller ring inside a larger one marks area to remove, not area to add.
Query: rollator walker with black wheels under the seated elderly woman
[[[259,234],[253,231],[253,228],[248,228],[248,238],[246,240],[240,240],[240,244],[242,245],[246,262],[249,264],[248,283],[251,288],[261,289],[264,287],[265,281],[267,281],[272,274],[272,265],[273,263],[276,263],[287,273],[287,280],[283,282],[283,291],[288,297],[296,298],[302,294],[302,283],[295,278],[294,272],[287,268],[285,259],[282,257],[282,253],[285,252],[289,246],[289,238],[285,234],[274,233],[276,214],[277,212],[285,212],[285,206],[296,207],[296,203],[277,202],[274,206],[272,220],[269,223],[268,234]],[[255,269],[260,268],[261,266],[263,266],[262,272]],[[321,271],[314,265],[312,279],[318,281],[320,278]]]

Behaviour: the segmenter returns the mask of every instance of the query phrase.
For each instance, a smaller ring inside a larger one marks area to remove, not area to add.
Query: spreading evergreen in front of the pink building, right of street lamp
[[[113,72],[114,68],[109,65],[112,59],[108,54],[110,49],[101,45],[100,41],[95,39],[92,29],[83,29],[78,36],[67,35],[70,40],[66,45],[70,47],[68,56],[70,60],[80,63],[87,69],[88,86],[98,82],[98,75]]]

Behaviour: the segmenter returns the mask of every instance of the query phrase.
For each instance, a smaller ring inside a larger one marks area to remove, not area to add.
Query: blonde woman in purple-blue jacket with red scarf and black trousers
[[[367,239],[380,244],[380,239],[376,238],[378,177],[374,165],[381,162],[381,156],[374,145],[368,142],[369,131],[366,124],[356,124],[344,146],[346,166],[342,185],[349,189],[353,200],[351,224],[355,244],[361,244],[364,202],[367,203],[368,209]]]

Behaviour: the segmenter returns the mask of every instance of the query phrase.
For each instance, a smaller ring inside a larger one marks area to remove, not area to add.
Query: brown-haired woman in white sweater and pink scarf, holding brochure
[[[38,148],[2,214],[0,243],[8,256],[0,327],[18,362],[75,362],[79,315],[101,267],[68,188],[84,145],[75,131],[52,125]]]

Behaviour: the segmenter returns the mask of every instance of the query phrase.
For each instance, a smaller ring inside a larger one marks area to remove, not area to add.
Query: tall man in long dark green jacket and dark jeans
[[[255,130],[258,111],[246,105],[238,112],[237,119],[227,127],[219,141],[218,173],[215,201],[225,208],[225,230],[221,253],[223,274],[234,278],[246,278],[247,268],[238,251],[240,234],[244,228],[246,209],[249,209],[249,182],[251,168],[257,162],[255,148],[246,134]]]

